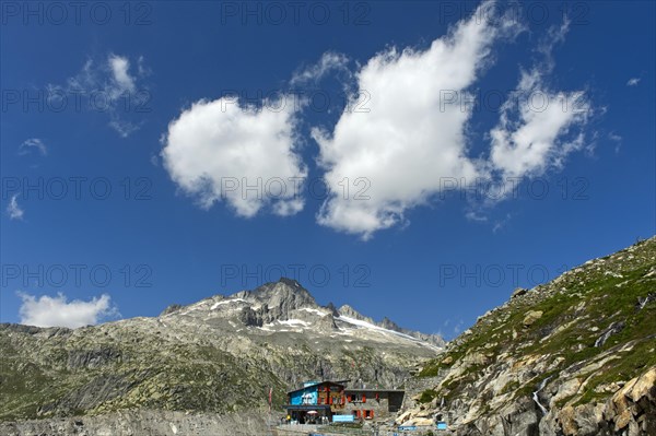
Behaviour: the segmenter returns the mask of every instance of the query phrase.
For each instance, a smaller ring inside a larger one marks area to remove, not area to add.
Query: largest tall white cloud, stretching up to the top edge
[[[356,73],[360,91],[371,95],[370,111],[344,111],[331,135],[313,130],[331,195],[320,224],[367,239],[403,222],[405,212],[427,202],[445,178],[479,176],[468,156],[471,109],[464,102],[494,42],[517,31],[509,19],[492,16],[489,4],[425,50],[390,48],[370,59]],[[371,199],[343,196],[345,177],[368,180]]]

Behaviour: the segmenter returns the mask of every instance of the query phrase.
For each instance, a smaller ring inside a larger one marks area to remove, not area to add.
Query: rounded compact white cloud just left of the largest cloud
[[[296,110],[285,96],[261,109],[232,97],[196,102],[168,125],[164,167],[204,208],[225,200],[239,216],[266,205],[294,214],[303,209],[295,187],[307,175],[296,153]]]

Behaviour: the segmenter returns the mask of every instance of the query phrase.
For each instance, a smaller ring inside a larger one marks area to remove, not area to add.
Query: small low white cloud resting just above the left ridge
[[[35,297],[19,293],[23,301],[20,308],[21,323],[37,327],[78,327],[95,325],[102,319],[118,315],[110,304],[110,297],[103,294],[90,302],[74,299],[68,302],[63,294],[56,297]]]

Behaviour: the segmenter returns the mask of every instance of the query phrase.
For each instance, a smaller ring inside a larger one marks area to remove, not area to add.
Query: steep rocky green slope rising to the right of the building
[[[397,423],[458,436],[656,435],[656,238],[516,290],[421,365]]]

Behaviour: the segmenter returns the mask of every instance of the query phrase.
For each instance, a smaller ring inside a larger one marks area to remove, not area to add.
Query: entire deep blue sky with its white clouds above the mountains
[[[3,322],[282,271],[453,338],[654,234],[653,2],[58,4],[2,3]]]

